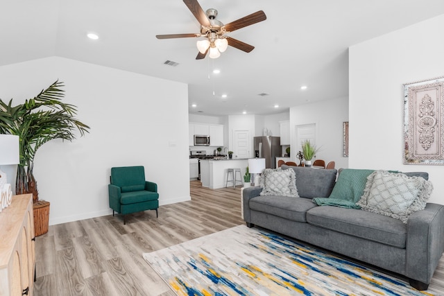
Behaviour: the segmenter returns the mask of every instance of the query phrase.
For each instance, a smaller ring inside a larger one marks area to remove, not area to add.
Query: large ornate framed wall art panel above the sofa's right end
[[[444,76],[404,84],[404,164],[444,165]]]

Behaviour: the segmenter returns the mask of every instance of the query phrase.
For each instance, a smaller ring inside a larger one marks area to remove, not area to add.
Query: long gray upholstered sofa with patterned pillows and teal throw
[[[336,169],[296,166],[300,198],[259,195],[260,186],[243,191],[244,220],[248,227],[264,227],[352,259],[409,278],[418,290],[427,290],[444,251],[444,205],[427,203],[401,220],[361,209],[318,206],[313,198],[328,198]],[[427,173],[406,173],[428,178]]]

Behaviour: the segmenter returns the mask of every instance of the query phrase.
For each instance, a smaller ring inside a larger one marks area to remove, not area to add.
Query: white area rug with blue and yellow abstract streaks
[[[177,295],[433,295],[245,225],[143,256]]]

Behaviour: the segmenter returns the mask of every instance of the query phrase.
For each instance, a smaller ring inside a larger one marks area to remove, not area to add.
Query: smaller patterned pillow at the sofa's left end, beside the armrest
[[[298,198],[296,189],[296,173],[292,168],[266,168],[262,173],[259,184],[262,187],[260,195],[282,195]]]

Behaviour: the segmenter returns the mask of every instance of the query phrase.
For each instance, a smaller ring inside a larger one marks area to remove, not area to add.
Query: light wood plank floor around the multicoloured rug
[[[109,215],[50,226],[36,238],[34,295],[175,295],[142,253],[243,224],[240,191],[194,181],[191,201],[161,206],[159,218],[145,211],[128,215],[126,225]],[[432,286],[444,290],[444,256]]]

